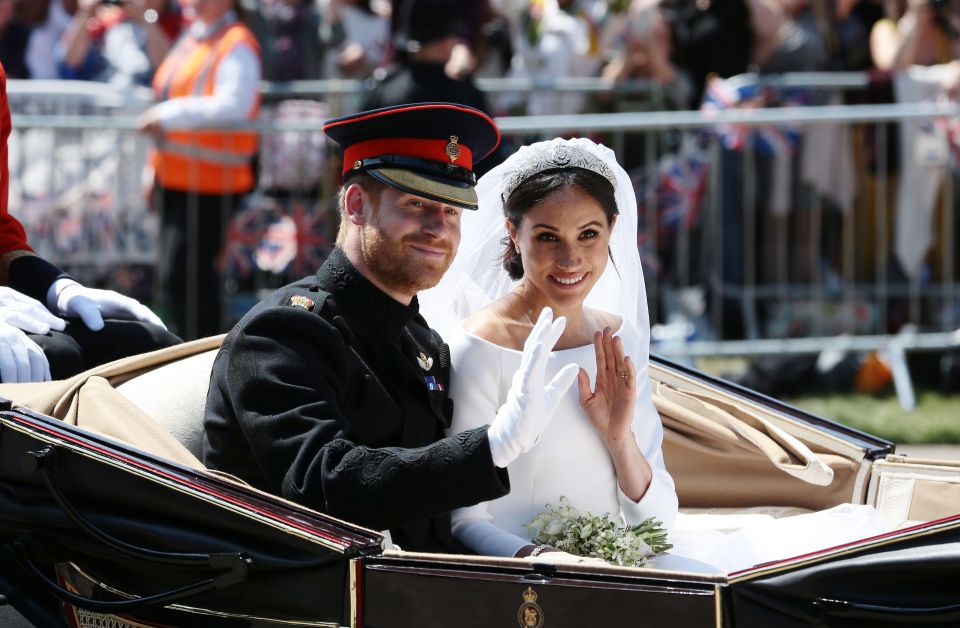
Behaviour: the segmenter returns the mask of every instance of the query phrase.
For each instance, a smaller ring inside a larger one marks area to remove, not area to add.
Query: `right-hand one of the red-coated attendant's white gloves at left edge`
[[[61,316],[80,318],[92,331],[103,329],[104,317],[142,321],[167,328],[146,305],[113,290],[87,288],[72,279],[58,279],[50,286],[50,292],[56,298],[56,307],[52,309]],[[48,301],[53,301],[53,296],[48,295]]]

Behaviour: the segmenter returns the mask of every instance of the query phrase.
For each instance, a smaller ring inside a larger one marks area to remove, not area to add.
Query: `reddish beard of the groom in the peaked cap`
[[[449,242],[408,236],[394,239],[374,219],[361,232],[361,250],[370,270],[387,288],[402,292],[420,292],[432,288],[450,268],[453,247]],[[411,245],[422,244],[430,249],[443,249],[442,258],[420,255]]]

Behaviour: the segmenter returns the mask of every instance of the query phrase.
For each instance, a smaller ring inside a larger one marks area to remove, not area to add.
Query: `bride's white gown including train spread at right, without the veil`
[[[640,337],[628,324],[616,334],[627,355],[645,355]],[[521,352],[497,346],[462,327],[449,339],[450,390],[454,419],[450,433],[477,427],[492,417],[510,389]],[[576,363],[593,382],[593,345],[554,351],[547,379]],[[737,516],[735,531],[715,529],[717,515],[678,514],[673,478],[664,465],[663,427],[651,400],[644,361],[638,364],[633,432],[653,469],[647,493],[634,502],[617,484],[613,463],[597,431],[580,407],[577,385],[567,391],[540,441],[509,467],[510,493],[500,499],[453,512],[453,533],[479,554],[513,556],[530,543],[526,524],[567,497],[573,506],[594,514],[612,513],[621,522],[640,523],[657,517],[669,532],[673,549],[655,557],[651,566],[706,573],[731,573],[761,563],[800,556],[889,532],[893,526],[871,506],[841,504],[834,508],[776,519],[764,514]],[[704,525],[711,520],[712,525]]]

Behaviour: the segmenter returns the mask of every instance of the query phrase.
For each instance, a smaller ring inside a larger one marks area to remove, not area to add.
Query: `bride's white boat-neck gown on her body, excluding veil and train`
[[[646,347],[641,350],[640,337],[629,324],[623,324],[616,335],[621,337],[627,355],[646,356]],[[462,327],[448,340],[452,365],[450,390],[454,400],[450,433],[457,433],[484,425],[497,413],[520,366],[522,353],[497,346]],[[547,364],[546,379],[549,381],[570,363],[582,366],[592,385],[596,375],[593,345],[554,351]],[[646,360],[638,362],[637,368],[633,432],[653,470],[650,487],[639,502],[620,491],[610,455],[580,407],[574,383],[540,441],[510,464],[510,493],[455,511],[454,535],[478,553],[513,556],[530,543],[526,524],[543,512],[547,504],[559,505],[563,496],[580,510],[611,513],[615,520],[631,525],[657,517],[670,529],[677,514],[677,494],[673,478],[663,463],[660,450],[663,426],[651,400]]]

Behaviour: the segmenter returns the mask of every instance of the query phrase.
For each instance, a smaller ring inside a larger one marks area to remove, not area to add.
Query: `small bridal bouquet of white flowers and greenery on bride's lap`
[[[534,543],[631,567],[643,567],[651,556],[673,547],[656,517],[622,526],[609,513],[598,516],[577,510],[566,497],[560,498],[559,506],[547,504],[526,527]]]

